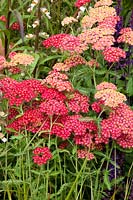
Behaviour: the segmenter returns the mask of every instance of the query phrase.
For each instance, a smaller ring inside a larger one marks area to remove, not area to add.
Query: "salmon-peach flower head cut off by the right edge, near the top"
[[[125,42],[126,44],[133,45],[133,30],[131,28],[123,28],[120,34],[117,39],[118,43]]]

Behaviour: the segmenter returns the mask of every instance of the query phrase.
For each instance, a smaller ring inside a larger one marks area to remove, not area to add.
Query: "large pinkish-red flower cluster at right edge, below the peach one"
[[[101,137],[112,138],[123,148],[133,147],[133,111],[122,103],[101,122]]]

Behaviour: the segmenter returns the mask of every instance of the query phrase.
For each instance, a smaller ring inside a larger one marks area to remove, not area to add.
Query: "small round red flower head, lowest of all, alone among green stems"
[[[52,154],[48,147],[36,147],[33,151],[33,160],[35,164],[43,165],[52,158]]]

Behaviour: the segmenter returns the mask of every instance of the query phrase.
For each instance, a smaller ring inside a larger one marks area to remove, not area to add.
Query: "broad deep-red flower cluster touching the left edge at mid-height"
[[[43,92],[41,82],[35,79],[17,82],[13,79],[5,78],[0,80],[0,83],[4,98],[8,99],[11,106],[19,106],[23,102],[30,102],[40,92]]]

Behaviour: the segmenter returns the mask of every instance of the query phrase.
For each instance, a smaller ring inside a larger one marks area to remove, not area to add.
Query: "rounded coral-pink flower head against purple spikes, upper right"
[[[119,62],[120,58],[126,58],[126,52],[119,47],[108,47],[102,54],[108,62]]]

